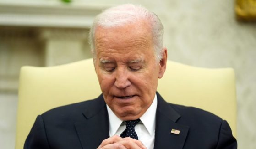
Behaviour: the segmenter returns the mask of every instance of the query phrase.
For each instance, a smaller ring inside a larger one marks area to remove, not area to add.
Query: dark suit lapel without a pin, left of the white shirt
[[[89,101],[83,122],[75,123],[76,132],[83,149],[96,149],[101,142],[109,138],[109,116],[103,96]]]

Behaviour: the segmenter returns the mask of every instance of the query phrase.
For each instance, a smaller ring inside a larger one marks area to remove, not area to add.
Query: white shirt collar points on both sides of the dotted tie
[[[107,110],[109,114],[109,132],[111,135],[114,135],[120,125],[122,124],[122,120],[118,118],[114,112],[107,105]],[[153,135],[156,126],[156,111],[157,111],[157,95],[153,99],[153,103],[147,109],[147,111],[140,117],[143,125],[147,128],[147,131],[150,135]]]

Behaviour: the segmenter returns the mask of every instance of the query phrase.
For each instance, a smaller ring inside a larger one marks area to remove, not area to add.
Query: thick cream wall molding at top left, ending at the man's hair
[[[0,3],[0,26],[90,28],[103,5]]]

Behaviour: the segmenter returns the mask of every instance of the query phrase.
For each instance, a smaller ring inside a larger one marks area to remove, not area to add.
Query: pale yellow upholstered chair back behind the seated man
[[[54,67],[22,67],[19,85],[16,149],[23,149],[38,114],[96,98],[101,93],[92,59]],[[233,69],[207,69],[168,61],[158,92],[168,102],[202,108],[226,119],[236,136]]]

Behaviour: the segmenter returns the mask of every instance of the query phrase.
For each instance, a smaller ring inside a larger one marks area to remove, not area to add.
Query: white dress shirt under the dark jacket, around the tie
[[[119,135],[125,130],[126,125],[120,118],[118,118],[107,105],[109,113],[109,136]],[[147,147],[147,149],[154,148],[155,142],[155,126],[156,126],[156,111],[157,111],[157,95],[153,103],[147,111],[140,117],[140,122],[136,124],[135,131],[139,140]]]

